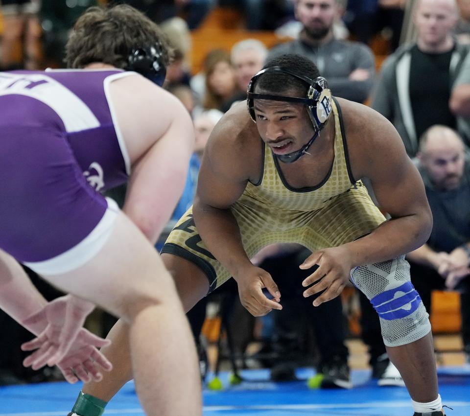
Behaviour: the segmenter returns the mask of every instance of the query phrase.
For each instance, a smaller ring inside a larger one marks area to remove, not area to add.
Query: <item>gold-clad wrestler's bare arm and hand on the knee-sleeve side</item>
[[[406,155],[399,134],[383,116],[360,104],[340,100],[352,174],[369,178],[380,208],[391,219],[369,235],[339,247],[311,254],[301,268],[320,267],[304,281],[310,296],[324,289],[314,301],[319,305],[336,297],[355,266],[398,257],[422,246],[432,229],[432,215],[423,181]]]

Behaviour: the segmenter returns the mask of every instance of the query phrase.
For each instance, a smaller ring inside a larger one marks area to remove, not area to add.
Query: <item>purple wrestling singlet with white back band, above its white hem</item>
[[[130,163],[109,84],[133,72],[0,73],[0,248],[22,262],[81,242],[108,208],[100,192]]]

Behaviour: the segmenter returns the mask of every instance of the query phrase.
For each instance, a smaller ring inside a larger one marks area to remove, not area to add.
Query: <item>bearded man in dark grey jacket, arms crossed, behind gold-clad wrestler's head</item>
[[[334,38],[333,24],[341,12],[337,0],[295,0],[295,17],[303,24],[299,38],[275,46],[268,59],[284,53],[303,55],[328,78],[335,96],[363,103],[374,83],[374,54],[362,43]]]

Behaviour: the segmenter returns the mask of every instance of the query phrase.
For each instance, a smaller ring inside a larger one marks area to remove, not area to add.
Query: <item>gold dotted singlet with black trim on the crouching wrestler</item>
[[[290,187],[271,149],[264,146],[259,183],[249,182],[231,207],[249,258],[273,243],[298,243],[311,251],[336,247],[370,233],[385,221],[366,187],[352,177],[336,100],[333,116],[334,160],[327,176],[316,186]],[[170,232],[162,253],[181,256],[199,266],[209,279],[210,291],[231,277],[202,242],[192,207]]]

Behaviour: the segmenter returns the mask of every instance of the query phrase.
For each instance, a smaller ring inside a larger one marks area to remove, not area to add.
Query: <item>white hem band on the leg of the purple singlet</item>
[[[82,241],[70,250],[44,261],[24,262],[38,275],[53,276],[71,272],[91,260],[104,246],[114,229],[114,221],[118,216],[118,204],[106,198],[108,208],[93,229]]]

